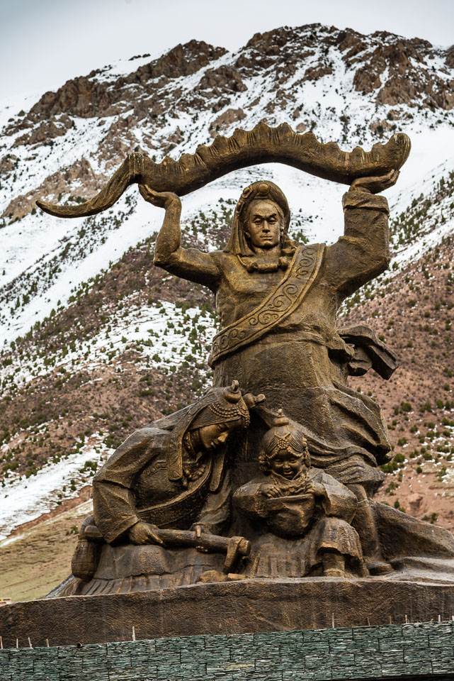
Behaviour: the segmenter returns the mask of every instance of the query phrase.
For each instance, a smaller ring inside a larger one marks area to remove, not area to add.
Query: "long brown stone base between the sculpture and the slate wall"
[[[396,573],[395,573],[396,574]],[[160,592],[72,596],[0,609],[4,648],[450,620],[454,581],[426,574],[348,580],[244,580]]]

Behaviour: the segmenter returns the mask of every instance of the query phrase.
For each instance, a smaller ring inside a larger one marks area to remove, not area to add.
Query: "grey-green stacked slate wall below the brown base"
[[[453,622],[13,648],[1,681],[454,679]]]

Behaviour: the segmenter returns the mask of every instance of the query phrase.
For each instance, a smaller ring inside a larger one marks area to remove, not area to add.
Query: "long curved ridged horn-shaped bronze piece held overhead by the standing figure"
[[[356,147],[345,152],[334,142],[320,143],[313,133],[298,135],[287,123],[278,128],[259,123],[249,132],[237,129],[230,138],[219,136],[210,146],[198,147],[195,154],[183,154],[179,161],[166,156],[155,163],[144,154],[130,154],[106,187],[84,204],[36,203],[51,215],[80,218],[110,208],[135,182],[148,184],[155,192],[184,196],[232,170],[259,163],[285,163],[333,182],[351,184],[357,177],[399,170],[409,152],[410,140],[404,133],[392,135],[385,145],[373,145],[370,151]]]

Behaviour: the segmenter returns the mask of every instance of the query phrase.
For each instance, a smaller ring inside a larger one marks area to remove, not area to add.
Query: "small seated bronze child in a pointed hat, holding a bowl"
[[[311,468],[305,436],[280,409],[265,433],[262,475],[235,492],[239,511],[259,532],[248,577],[366,575],[358,534],[349,524],[356,496],[322,470]],[[280,538],[280,539],[278,539]]]

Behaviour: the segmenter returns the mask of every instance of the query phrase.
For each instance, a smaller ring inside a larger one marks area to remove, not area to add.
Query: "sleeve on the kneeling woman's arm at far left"
[[[140,471],[159,453],[156,428],[141,428],[125,440],[93,477],[93,513],[108,543],[140,521],[132,487]]]

